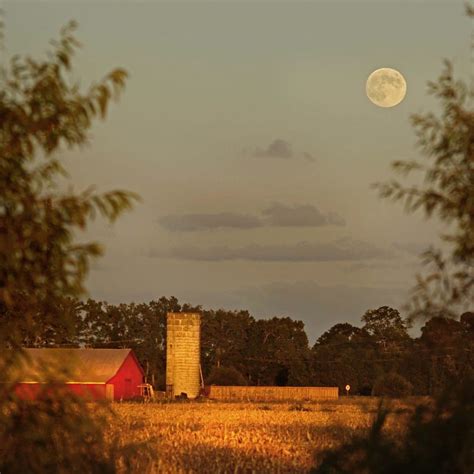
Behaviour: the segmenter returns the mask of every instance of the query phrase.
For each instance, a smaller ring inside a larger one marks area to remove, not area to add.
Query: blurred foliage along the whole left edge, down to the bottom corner
[[[46,59],[14,57],[0,78],[0,347],[16,349],[2,359],[3,377],[23,344],[47,343],[53,333],[70,337],[75,311],[64,309],[84,293],[90,260],[101,254],[99,244],[76,235],[98,214],[115,221],[137,199],[60,187],[67,175],[59,153],[87,143],[94,119],[105,118],[127,77],[116,69],[82,92],[72,78],[74,28],[61,30]],[[45,392],[31,405],[1,385],[0,471],[115,469],[102,421],[80,399]]]

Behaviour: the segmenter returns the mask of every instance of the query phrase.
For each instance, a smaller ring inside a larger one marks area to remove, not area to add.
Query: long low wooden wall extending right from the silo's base
[[[242,401],[294,401],[337,399],[337,387],[206,387],[209,398]]]

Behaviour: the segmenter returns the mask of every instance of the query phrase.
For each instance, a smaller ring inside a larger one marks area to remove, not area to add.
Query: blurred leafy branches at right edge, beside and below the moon
[[[474,16],[474,10],[468,9],[468,14]],[[470,108],[474,90],[456,80],[451,63],[445,61],[438,81],[428,82],[428,92],[441,102],[441,116],[412,116],[428,163],[393,163],[404,176],[422,172],[423,184],[392,180],[375,185],[382,198],[402,201],[409,213],[422,209],[427,218],[437,217],[450,229],[441,236],[451,247],[447,257],[435,248],[423,254],[431,273],[417,275],[407,305],[411,319],[455,317],[460,306],[474,301],[474,113]]]

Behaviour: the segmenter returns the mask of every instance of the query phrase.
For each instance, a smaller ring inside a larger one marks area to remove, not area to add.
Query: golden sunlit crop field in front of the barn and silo
[[[308,472],[326,449],[366,430],[375,398],[321,403],[182,402],[115,404],[111,434],[151,447],[145,471],[181,473]],[[392,403],[387,430],[404,429],[413,401]],[[137,463],[145,467],[137,459]]]

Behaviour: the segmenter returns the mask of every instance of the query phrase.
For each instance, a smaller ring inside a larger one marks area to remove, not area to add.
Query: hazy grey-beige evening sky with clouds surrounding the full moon
[[[86,87],[115,67],[130,74],[89,146],[62,153],[75,190],[142,198],[81,236],[106,249],[89,295],[290,316],[311,343],[367,309],[402,311],[442,227],[371,184],[421,156],[410,115],[437,110],[426,82],[442,60],[469,74],[463,5],[4,1],[7,56],[44,55],[75,19],[74,77]],[[380,67],[406,79],[396,107],[366,96]]]

